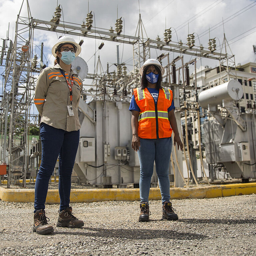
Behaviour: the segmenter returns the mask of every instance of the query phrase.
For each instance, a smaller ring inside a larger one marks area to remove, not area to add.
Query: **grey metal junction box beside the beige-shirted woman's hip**
[[[95,162],[95,138],[80,138],[80,162]]]

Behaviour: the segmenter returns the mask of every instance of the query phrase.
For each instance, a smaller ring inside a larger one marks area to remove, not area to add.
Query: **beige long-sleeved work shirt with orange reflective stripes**
[[[74,116],[69,116],[67,105],[70,105],[70,93],[66,78],[61,74],[64,72],[71,85],[73,76],[73,111]],[[41,122],[65,131],[77,131],[81,128],[78,119],[78,103],[82,93],[83,83],[81,78],[71,69],[68,73],[56,64],[54,67],[43,69],[38,77],[34,103],[41,115]]]

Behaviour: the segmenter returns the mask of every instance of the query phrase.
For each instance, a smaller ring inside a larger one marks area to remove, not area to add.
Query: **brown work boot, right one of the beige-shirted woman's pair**
[[[56,224],[57,227],[63,228],[81,228],[84,225],[82,220],[78,220],[72,214],[72,207],[67,207],[66,210],[59,211],[58,222]]]

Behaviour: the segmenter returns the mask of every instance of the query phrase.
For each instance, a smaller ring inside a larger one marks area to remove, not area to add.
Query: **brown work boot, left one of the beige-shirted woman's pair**
[[[34,213],[33,232],[37,232],[41,235],[52,233],[53,226],[49,225],[47,221],[49,221],[49,219],[45,216],[44,210]]]

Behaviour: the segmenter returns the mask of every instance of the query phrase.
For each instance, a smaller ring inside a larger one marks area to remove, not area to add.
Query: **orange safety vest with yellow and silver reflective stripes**
[[[140,108],[138,135],[143,139],[159,139],[172,136],[167,109],[172,105],[172,91],[161,87],[157,104],[148,89],[133,89],[135,101]]]

